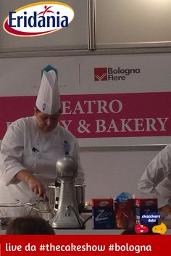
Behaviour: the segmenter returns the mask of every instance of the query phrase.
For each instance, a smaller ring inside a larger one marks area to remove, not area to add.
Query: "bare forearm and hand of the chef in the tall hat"
[[[46,197],[46,189],[43,183],[41,183],[38,178],[33,176],[33,174],[29,173],[28,170],[20,170],[20,172],[17,173],[16,178],[19,181],[25,181],[28,183],[31,191],[33,191],[35,194],[38,194],[39,197],[43,197],[44,200],[48,199]]]

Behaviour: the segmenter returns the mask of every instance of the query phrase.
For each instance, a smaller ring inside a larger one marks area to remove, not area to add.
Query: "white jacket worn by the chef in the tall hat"
[[[38,129],[35,117],[21,118],[7,129],[1,143],[0,154],[0,203],[35,202],[27,183],[14,176],[20,170],[29,170],[44,185],[57,179],[56,163],[68,151],[78,162],[78,179],[84,180],[80,165],[78,142],[69,131],[57,125],[51,132]]]

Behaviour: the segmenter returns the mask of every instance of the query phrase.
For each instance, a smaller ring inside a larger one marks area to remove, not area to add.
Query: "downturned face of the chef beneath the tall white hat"
[[[57,127],[61,110],[54,115],[46,115],[37,108],[35,109],[35,117],[38,128],[45,132],[50,132]]]

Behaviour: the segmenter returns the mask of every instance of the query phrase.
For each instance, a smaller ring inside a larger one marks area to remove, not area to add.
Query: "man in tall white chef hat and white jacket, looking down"
[[[9,125],[1,143],[0,203],[35,202],[46,199],[46,185],[57,179],[56,163],[69,154],[78,162],[78,177],[84,180],[78,142],[59,125],[61,115],[57,70],[44,68],[34,116]]]

